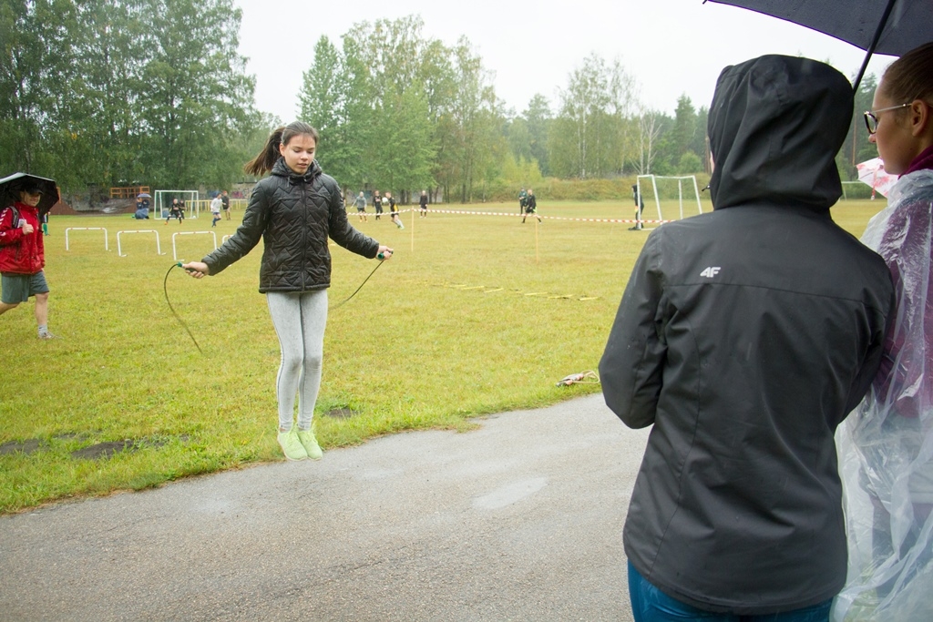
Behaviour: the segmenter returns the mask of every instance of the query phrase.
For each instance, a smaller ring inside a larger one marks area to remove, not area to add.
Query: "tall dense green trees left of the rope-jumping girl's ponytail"
[[[219,187],[262,123],[232,0],[0,0],[0,170]]]

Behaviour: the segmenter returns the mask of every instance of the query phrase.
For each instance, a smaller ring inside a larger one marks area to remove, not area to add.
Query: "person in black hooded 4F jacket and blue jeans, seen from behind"
[[[822,62],[722,71],[714,211],[648,236],[600,362],[606,404],[653,424],[623,542],[636,622],[828,620],[845,582],[833,434],[893,314],[884,260],[837,226],[852,87]]]

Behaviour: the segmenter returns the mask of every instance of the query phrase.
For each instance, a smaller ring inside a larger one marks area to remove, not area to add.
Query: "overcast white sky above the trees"
[[[708,106],[719,71],[761,54],[828,61],[850,78],[864,52],[796,24],[744,8],[702,0],[235,0],[243,9],[240,52],[257,78],[260,110],[281,120],[298,113],[301,74],[314,44],[327,35],[338,47],[353,24],[420,15],[424,35],[453,45],[466,37],[494,74],[496,94],[521,113],[536,92],[557,107],[557,90],[592,52],[621,59],[638,81],[641,100],[673,113],[686,93]],[[880,76],[894,59],[878,56]]]

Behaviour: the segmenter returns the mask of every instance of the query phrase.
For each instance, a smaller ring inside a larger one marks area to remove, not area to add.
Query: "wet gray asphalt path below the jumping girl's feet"
[[[3,620],[632,620],[602,395],[0,518]]]

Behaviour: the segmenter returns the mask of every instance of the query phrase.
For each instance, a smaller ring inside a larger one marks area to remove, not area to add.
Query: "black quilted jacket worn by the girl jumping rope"
[[[202,261],[217,274],[262,238],[260,293],[324,289],[330,286],[328,237],[357,255],[371,259],[379,253],[379,242],[349,223],[340,187],[317,160],[299,175],[279,159],[272,174],[253,188],[243,224]]]

